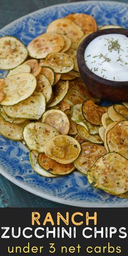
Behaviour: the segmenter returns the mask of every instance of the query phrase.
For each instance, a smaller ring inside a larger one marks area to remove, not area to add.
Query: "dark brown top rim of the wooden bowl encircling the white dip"
[[[89,76],[89,78],[92,78],[93,80],[95,80],[101,84],[105,84],[105,85],[108,85],[111,87],[118,87],[118,88],[121,88],[123,86],[128,86],[128,79],[127,79],[127,81],[114,81],[114,80],[101,78],[100,76],[93,73],[91,71],[91,69],[89,69],[88,66],[86,65],[84,55],[85,55],[85,50],[86,50],[88,44],[91,41],[93,41],[96,37],[98,37],[100,35],[108,35],[108,34],[121,34],[121,35],[125,35],[128,37],[128,29],[125,29],[125,28],[102,29],[102,30],[95,31],[94,33],[85,37],[85,39],[80,43],[80,45],[78,47],[78,52],[77,52],[77,61],[78,61],[79,72],[81,73],[80,67],[82,66],[82,72],[87,74]]]

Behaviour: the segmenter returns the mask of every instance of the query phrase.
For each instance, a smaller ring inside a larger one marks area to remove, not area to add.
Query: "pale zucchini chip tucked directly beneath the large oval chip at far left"
[[[12,118],[39,119],[46,110],[46,99],[41,92],[34,92],[28,99],[14,106],[3,106],[5,113]]]

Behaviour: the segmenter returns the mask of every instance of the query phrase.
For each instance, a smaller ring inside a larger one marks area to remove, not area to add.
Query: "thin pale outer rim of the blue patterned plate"
[[[54,7],[64,7],[64,6],[72,6],[72,5],[78,5],[78,4],[84,4],[84,3],[93,3],[93,4],[96,4],[96,3],[106,3],[106,4],[109,4],[109,5],[114,5],[114,4],[121,4],[121,6],[127,6],[128,4],[127,3],[122,3],[122,2],[117,2],[117,1],[80,1],[80,2],[74,2],[74,3],[63,3],[63,4],[55,4],[55,5],[50,5],[49,7],[45,7],[45,8],[42,8],[42,9],[39,9],[39,10],[36,10],[36,11],[33,11],[33,12],[30,12],[29,14],[27,15],[24,15],[20,18],[17,18],[16,20],[10,22],[9,24],[5,25],[5,27],[3,27],[2,29],[0,29],[0,32],[3,32],[5,29],[8,29],[9,27],[11,27],[13,24],[15,24],[16,22],[19,22],[21,20],[23,20],[25,17],[30,17],[31,15],[33,14],[40,14],[40,12],[42,11],[45,11],[45,10],[48,10],[49,8],[54,8]],[[28,192],[34,194],[34,195],[37,195],[37,196],[40,196],[40,197],[43,197],[44,199],[47,199],[47,200],[50,200],[50,201],[54,201],[54,202],[57,202],[57,203],[62,203],[62,204],[66,204],[66,205],[69,205],[69,206],[77,206],[77,207],[93,207],[93,208],[101,208],[101,207],[114,207],[114,208],[118,208],[118,207],[128,207],[128,202],[127,202],[127,205],[126,205],[126,202],[123,203],[123,200],[121,202],[121,205],[118,206],[118,202],[116,204],[113,204],[113,202],[109,202],[109,203],[105,203],[105,202],[88,202],[85,200],[81,200],[81,201],[75,201],[75,200],[66,200],[66,199],[62,199],[62,198],[59,198],[59,197],[55,197],[54,195],[48,195],[47,193],[44,193],[43,191],[43,194],[41,193],[41,191],[35,191],[33,187],[30,187],[29,185],[27,184],[23,184],[21,183],[20,181],[17,181],[15,177],[13,176],[10,176],[10,174],[8,173],[5,173],[4,170],[0,169],[0,174],[2,174],[5,178],[7,178],[9,181],[11,181],[12,183],[18,185],[18,187],[21,187],[22,189],[24,190],[27,190]],[[83,202],[85,202],[86,205],[83,206]]]

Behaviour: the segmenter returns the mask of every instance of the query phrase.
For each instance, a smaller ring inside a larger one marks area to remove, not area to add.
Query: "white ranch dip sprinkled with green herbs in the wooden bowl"
[[[85,50],[85,62],[101,78],[128,81],[128,38],[121,34],[96,37]]]

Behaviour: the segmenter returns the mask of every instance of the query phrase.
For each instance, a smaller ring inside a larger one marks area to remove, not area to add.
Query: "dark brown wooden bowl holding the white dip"
[[[88,35],[80,44],[77,53],[78,67],[82,80],[89,91],[100,99],[110,101],[128,101],[128,79],[127,81],[111,81],[94,74],[86,65],[84,54],[88,44],[98,36],[107,34],[121,34],[128,36],[127,29],[104,29]]]

